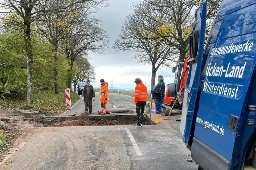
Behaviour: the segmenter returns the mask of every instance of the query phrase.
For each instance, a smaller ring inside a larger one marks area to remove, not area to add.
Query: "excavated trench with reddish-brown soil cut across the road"
[[[118,115],[118,116],[88,116],[86,118],[60,117],[47,120],[38,120],[45,126],[113,126],[113,125],[134,125],[136,115]],[[144,116],[143,125],[150,125],[147,115]],[[151,124],[154,124],[151,122]]]

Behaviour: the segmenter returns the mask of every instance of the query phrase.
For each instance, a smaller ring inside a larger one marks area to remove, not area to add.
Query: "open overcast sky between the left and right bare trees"
[[[108,0],[109,7],[105,7],[98,12],[103,21],[103,27],[110,37],[110,47],[121,32],[124,18],[132,13],[132,4],[139,0]],[[113,76],[114,87],[134,88],[134,80],[139,77],[150,89],[151,84],[151,65],[141,65],[132,58],[134,54],[129,51],[116,52],[114,49],[106,49],[104,55],[89,53],[90,62],[95,67],[96,82],[92,83],[95,87],[100,86],[100,79],[104,79],[111,86]],[[170,69],[161,68],[157,75],[163,75],[165,83],[174,81],[174,74]],[[157,79],[155,80],[157,83]],[[117,83],[118,82],[118,83]]]

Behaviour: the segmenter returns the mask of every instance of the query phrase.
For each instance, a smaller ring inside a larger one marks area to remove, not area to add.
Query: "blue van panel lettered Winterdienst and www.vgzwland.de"
[[[207,63],[191,156],[203,169],[236,166],[255,72],[256,3],[235,3],[223,18]]]

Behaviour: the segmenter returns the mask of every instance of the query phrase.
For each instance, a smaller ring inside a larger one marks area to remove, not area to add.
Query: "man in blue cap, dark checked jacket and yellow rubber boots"
[[[162,104],[165,98],[165,82],[162,75],[158,76],[158,84],[154,89],[152,89],[152,92],[156,106],[156,120],[154,121],[154,123],[161,123]]]

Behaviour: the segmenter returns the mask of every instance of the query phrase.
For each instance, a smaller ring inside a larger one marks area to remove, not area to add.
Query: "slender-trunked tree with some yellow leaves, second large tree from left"
[[[54,87],[55,93],[58,93],[58,48],[62,40],[68,39],[73,36],[66,34],[66,30],[73,29],[75,25],[83,22],[85,18],[90,17],[93,13],[97,12],[97,6],[107,6],[106,0],[85,1],[84,3],[74,4],[70,6],[72,0],[57,0],[62,6],[68,6],[65,10],[58,11],[57,13],[45,15],[42,17],[41,22],[37,24],[41,33],[52,43],[55,53],[56,67],[54,70]],[[76,33],[73,33],[76,34]]]

